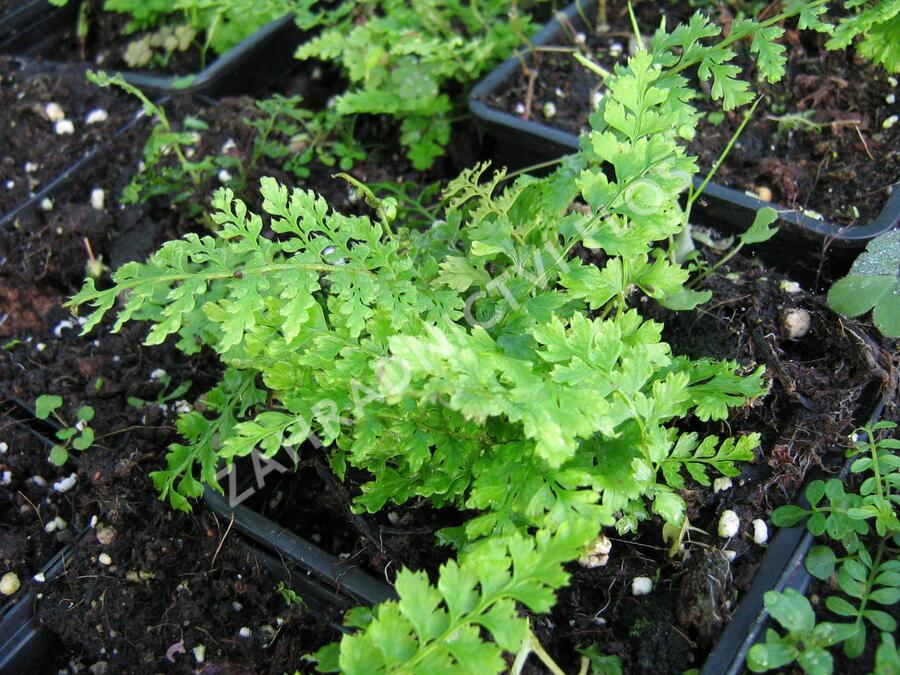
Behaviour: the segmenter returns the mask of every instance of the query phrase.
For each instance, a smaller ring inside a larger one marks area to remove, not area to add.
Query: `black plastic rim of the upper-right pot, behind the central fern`
[[[596,9],[594,0],[585,0],[570,5],[563,14],[571,25],[581,30],[586,29],[583,17],[595,16]],[[575,134],[541,122],[523,120],[488,102],[494,92],[521,72],[523,59],[526,63],[530,62],[531,47],[566,41],[563,24],[558,19],[550,21],[531,40],[529,47],[499,65],[469,95],[469,109],[486,134],[494,140],[496,158],[510,168],[532,166],[579,150],[579,139]],[[694,177],[695,188],[702,182],[702,175]],[[825,255],[824,249],[828,249],[827,259],[833,267],[832,274],[839,276],[846,272],[853,258],[870,239],[900,226],[898,189],[891,192],[878,217],[869,223],[850,228],[810,218],[798,211],[764,202],[713,181],[710,181],[701,198],[694,204],[692,216],[698,224],[715,226],[733,234],[746,230],[753,223],[756,212],[767,206],[778,211],[776,224],[781,226],[781,231],[768,242],[754,245],[754,250],[767,262],[784,269],[810,287],[822,272],[820,259]],[[815,208],[815,204],[809,206]]]

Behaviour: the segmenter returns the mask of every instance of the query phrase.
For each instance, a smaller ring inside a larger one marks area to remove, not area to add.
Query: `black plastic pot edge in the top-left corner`
[[[42,56],[52,59],[64,40],[74,40],[78,2],[54,7],[47,0],[32,0],[0,19],[0,53]],[[302,36],[293,15],[272,21],[243,42],[221,54],[206,68],[189,76],[169,77],[141,71],[123,71],[122,76],[147,94],[176,93],[234,95],[246,92],[251,83],[270,72],[281,72],[293,62]]]

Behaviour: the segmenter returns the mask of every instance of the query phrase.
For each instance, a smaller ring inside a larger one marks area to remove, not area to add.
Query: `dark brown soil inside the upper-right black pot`
[[[586,44],[595,60],[612,69],[627,58],[633,38],[627,10],[620,3],[609,5],[611,34],[588,31]],[[636,10],[642,30],[652,34],[659,25],[658,5],[638,5]],[[690,15],[690,8],[684,4],[663,13],[673,26]],[[732,18],[730,10],[718,8],[715,20],[726,33]],[[853,50],[826,51],[821,36],[788,29],[783,41],[788,63],[777,84],[757,79],[746,45],[737,50],[743,76],[763,98],[714,180],[784,207],[813,210],[809,215],[838,225],[864,224],[878,215],[900,176],[900,124],[884,127],[900,113],[893,98],[900,95],[896,80]],[[572,46],[565,36],[562,43]],[[516,112],[517,106],[527,105],[524,73],[505,83],[488,103],[571,133],[589,129],[592,95],[604,92],[597,76],[568,53],[540,52],[534,63],[537,77],[529,110]],[[717,120],[720,103],[709,98],[708,82],[699,86],[705,95],[696,105],[707,115],[688,151],[706,171],[737,131],[745,108]],[[547,103],[556,108],[552,119],[543,114]]]

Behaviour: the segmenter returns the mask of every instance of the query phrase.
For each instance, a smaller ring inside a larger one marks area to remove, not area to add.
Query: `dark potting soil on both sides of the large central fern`
[[[890,347],[782,275],[736,258],[707,286],[714,299],[697,312],[647,309],[665,322],[664,337],[675,353],[733,359],[748,369],[766,365],[771,388],[762,400],[736,410],[727,423],[688,420],[685,427],[720,437],[760,432],[756,460],[741,466],[732,487],[718,493],[688,481],[688,518],[699,529],[688,534],[685,551],[675,558],[667,554],[661,522],[652,519],[633,535],[608,533],[613,553],[606,567],[570,566],[572,580],[554,610],[531,617],[536,635],[566,672],[579,667],[576,648],[592,643],[619,656],[625,672],[681,673],[702,665],[765,554],[753,542],[752,521],[766,521],[774,536],[772,509],[793,501],[813,472],[836,472],[847,434],[879,395],[895,397]],[[811,316],[810,332],[797,340],[783,327],[785,312],[794,309]],[[435,579],[452,551],[434,545],[434,532],[461,524],[467,514],[421,501],[353,514],[350,505],[365,472],[348,472],[342,485],[325,466],[321,451],[306,448],[296,473],[268,474],[248,504],[375,578],[393,581],[406,566],[428,570]],[[716,535],[725,509],[741,519],[730,540]],[[734,552],[733,563],[724,551]],[[656,579],[649,596],[632,595],[635,576]]]

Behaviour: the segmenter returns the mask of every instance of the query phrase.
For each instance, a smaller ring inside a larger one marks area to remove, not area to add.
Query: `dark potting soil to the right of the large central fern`
[[[613,537],[610,563],[575,569],[550,616],[534,617],[538,636],[569,669],[578,665],[576,647],[592,643],[619,656],[625,672],[700,667],[765,553],[753,542],[752,521],[764,520],[774,536],[771,511],[794,501],[813,472],[836,473],[847,434],[865,421],[874,400],[895,400],[890,345],[876,344],[862,326],[837,317],[815,296],[791,292],[790,283],[785,290],[784,281],[738,257],[707,282],[713,299],[698,311],[651,311],[664,321],[663,337],[676,354],[766,365],[772,384],[763,400],[734,411],[726,423],[688,425],[701,435],[757,431],[762,441],[756,460],[741,466],[730,489],[714,493],[689,481],[688,519],[700,531],[688,533],[684,556],[667,556],[659,523],[641,527],[634,537]],[[811,330],[791,340],[783,317],[795,309],[810,313]],[[725,509],[741,520],[731,540],[716,536]],[[730,568],[722,563],[723,550],[736,554]],[[658,579],[650,595],[632,595],[635,576]]]

